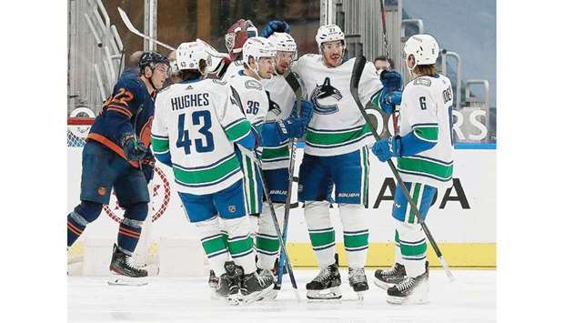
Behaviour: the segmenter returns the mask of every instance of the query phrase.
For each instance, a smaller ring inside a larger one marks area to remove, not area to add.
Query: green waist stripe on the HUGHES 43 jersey
[[[215,182],[222,177],[226,177],[239,168],[237,156],[206,169],[186,170],[173,166],[176,180],[185,184],[206,184]]]

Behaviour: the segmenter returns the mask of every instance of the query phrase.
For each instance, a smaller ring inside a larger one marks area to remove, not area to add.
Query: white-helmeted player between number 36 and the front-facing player
[[[296,97],[284,78],[284,74],[297,56],[297,45],[292,36],[286,33],[274,33],[268,37],[268,41],[277,50],[276,73],[270,79],[263,79],[261,82],[265,86],[270,104],[267,122],[261,131],[261,159],[270,199],[274,204],[278,223],[282,226],[288,187],[288,143],[289,139],[304,136],[311,118],[312,105],[306,101],[299,101],[300,98]],[[300,105],[300,116],[296,115],[297,104]],[[275,266],[279,247],[270,208],[263,207],[257,231],[257,267],[261,275],[272,276],[271,270]],[[279,287],[275,287],[270,293],[271,298],[276,297],[277,288]]]

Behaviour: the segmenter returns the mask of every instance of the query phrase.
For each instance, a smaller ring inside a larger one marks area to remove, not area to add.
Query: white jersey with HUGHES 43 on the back
[[[225,82],[183,82],[156,96],[152,149],[170,152],[179,192],[211,194],[241,179],[232,142],[250,131]]]

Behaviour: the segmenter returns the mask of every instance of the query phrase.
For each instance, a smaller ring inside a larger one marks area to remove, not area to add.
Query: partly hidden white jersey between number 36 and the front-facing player
[[[267,122],[286,119],[290,116],[294,109],[296,95],[284,76],[275,75],[270,79],[263,79],[261,83],[265,86],[270,100]],[[263,146],[261,157],[263,169],[287,168],[290,160],[288,140],[277,146]]]

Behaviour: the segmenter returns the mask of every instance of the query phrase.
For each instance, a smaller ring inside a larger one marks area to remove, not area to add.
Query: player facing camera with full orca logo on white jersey
[[[292,70],[302,79],[314,115],[307,126],[306,148],[299,167],[297,197],[305,204],[311,244],[321,271],[306,286],[307,298],[341,298],[341,278],[335,254],[335,229],[329,217],[327,187],[335,186],[335,201],[343,227],[348,282],[362,298],[368,289],[368,147],[373,142],[349,85],[355,59],[347,60],[345,35],[337,25],[321,25],[316,41],[319,55],[301,56]],[[382,85],[372,63],[360,78],[359,96],[379,106]],[[330,190],[329,190],[330,192]]]

